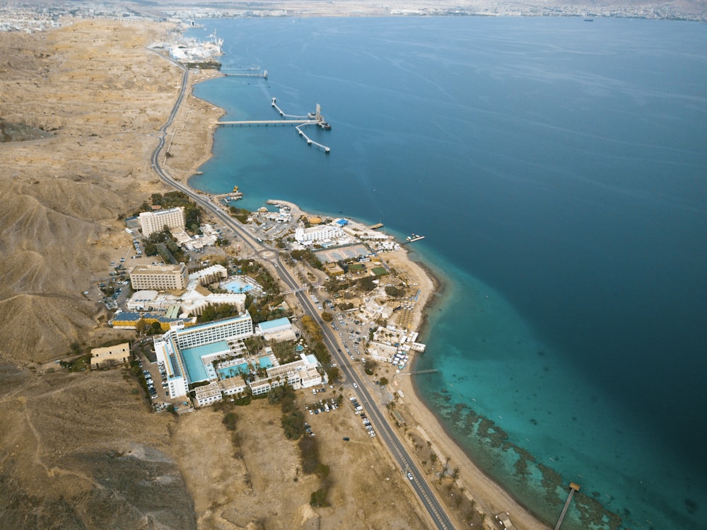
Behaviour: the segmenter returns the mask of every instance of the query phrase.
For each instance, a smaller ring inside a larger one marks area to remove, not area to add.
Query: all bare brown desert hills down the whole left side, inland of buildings
[[[150,414],[124,369],[41,364],[74,342],[129,336],[83,291],[125,245],[121,217],[164,190],[149,154],[182,71],[145,47],[164,30],[80,21],[0,33],[1,528],[196,528],[173,417]],[[209,152],[208,131],[194,138],[177,168]]]

